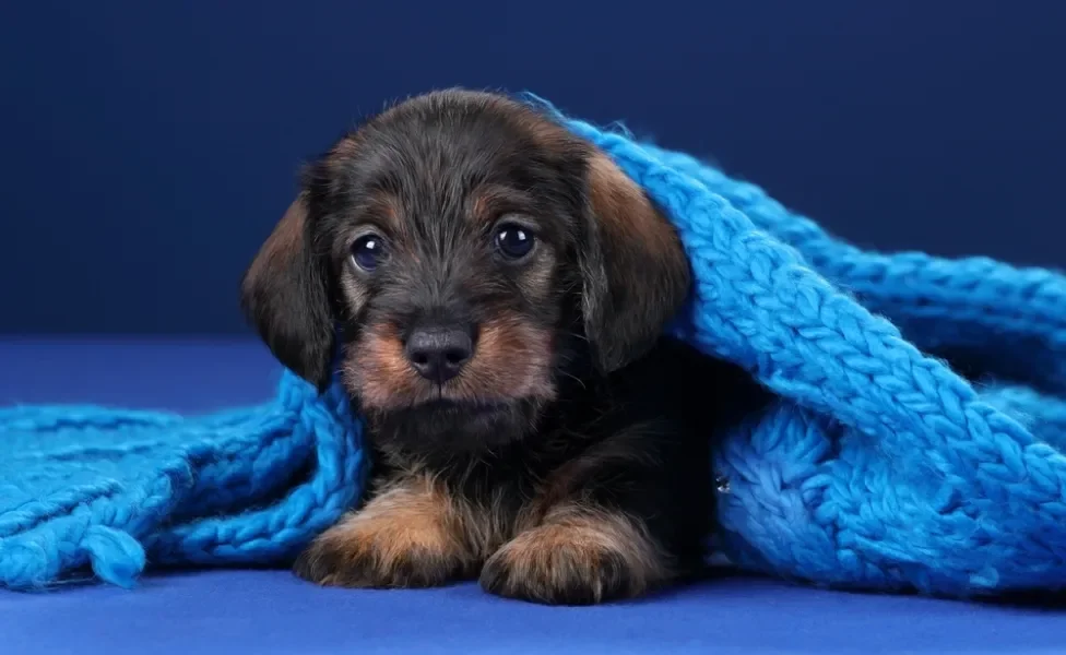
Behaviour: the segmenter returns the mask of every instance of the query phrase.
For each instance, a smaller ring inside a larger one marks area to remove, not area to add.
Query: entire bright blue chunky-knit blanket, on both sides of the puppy
[[[709,552],[830,587],[1066,586],[1066,278],[865,252],[689,155],[555,116],[678,228],[696,285],[670,330],[774,394],[708,463]],[[366,464],[340,385],[319,396],[287,371],[274,400],[211,416],[3,409],[0,583],[283,564]]]

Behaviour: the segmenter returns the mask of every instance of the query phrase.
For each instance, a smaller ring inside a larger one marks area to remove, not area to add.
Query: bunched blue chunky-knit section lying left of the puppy
[[[288,371],[273,402],[205,417],[0,410],[0,584],[286,561],[353,503],[365,460],[341,386]]]

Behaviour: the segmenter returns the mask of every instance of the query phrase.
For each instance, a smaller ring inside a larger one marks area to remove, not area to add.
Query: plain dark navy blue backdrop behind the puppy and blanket
[[[1057,0],[7,2],[0,331],[245,331],[298,164],[453,84],[623,119],[864,246],[1064,265],[1064,64]]]

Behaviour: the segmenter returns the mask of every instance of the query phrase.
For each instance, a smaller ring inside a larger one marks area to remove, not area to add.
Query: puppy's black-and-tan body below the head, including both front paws
[[[521,442],[439,461],[376,442],[367,504],[298,572],[375,587],[479,575],[501,595],[566,604],[682,579],[701,567],[712,517],[709,396],[731,376],[664,340],[608,380],[575,383]]]

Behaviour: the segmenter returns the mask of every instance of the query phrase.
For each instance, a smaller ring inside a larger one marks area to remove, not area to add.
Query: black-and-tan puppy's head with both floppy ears
[[[242,306],[320,388],[342,346],[394,445],[454,449],[526,434],[569,380],[639,357],[688,285],[673,227],[603,153],[520,103],[446,91],[308,167]]]

